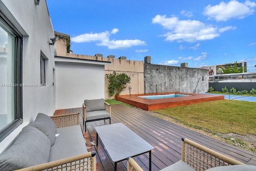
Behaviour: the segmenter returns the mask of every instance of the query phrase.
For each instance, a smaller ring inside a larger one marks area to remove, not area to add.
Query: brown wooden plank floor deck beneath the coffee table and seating
[[[82,108],[56,110],[54,115],[74,112],[82,114]],[[122,104],[111,105],[111,123],[119,122],[122,122],[155,148],[152,150],[152,171],[159,171],[181,159],[181,137],[191,139],[242,163],[256,165],[256,153],[159,119],[135,107],[126,107]],[[87,123],[88,131],[84,133],[86,140],[96,142],[94,127],[106,124],[109,124],[109,120],[106,120],[106,123],[103,120]],[[84,130],[84,127],[82,127],[82,130]],[[96,170],[114,171],[114,162],[111,161],[108,153],[102,147],[102,142],[99,141],[99,147],[94,147],[93,145],[90,147],[91,149],[88,149],[88,151],[97,152]],[[134,159],[144,170],[148,170],[148,153],[134,157]],[[126,167],[127,161],[118,163],[118,171],[126,171]]]

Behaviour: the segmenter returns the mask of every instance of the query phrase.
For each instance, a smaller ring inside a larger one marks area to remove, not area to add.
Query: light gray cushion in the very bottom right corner
[[[256,166],[253,165],[230,165],[219,166],[207,169],[207,171],[256,171]]]

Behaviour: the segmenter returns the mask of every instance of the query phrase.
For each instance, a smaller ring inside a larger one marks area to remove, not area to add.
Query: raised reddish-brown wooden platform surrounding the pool
[[[185,97],[174,97],[164,99],[146,99],[137,97],[140,95],[163,95],[163,94],[186,94]],[[223,100],[224,95],[208,95],[198,93],[181,93],[181,92],[169,92],[169,93],[152,93],[152,94],[140,94],[140,95],[119,95],[116,96],[116,100],[128,103],[130,105],[139,107],[143,110],[162,109],[167,107],[174,107],[180,105],[190,105],[194,103],[201,103],[206,101]]]

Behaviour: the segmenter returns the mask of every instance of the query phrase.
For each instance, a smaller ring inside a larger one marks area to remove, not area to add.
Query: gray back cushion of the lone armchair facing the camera
[[[86,107],[86,112],[96,111],[96,110],[105,110],[104,99],[92,99],[92,100],[84,100],[84,105]]]

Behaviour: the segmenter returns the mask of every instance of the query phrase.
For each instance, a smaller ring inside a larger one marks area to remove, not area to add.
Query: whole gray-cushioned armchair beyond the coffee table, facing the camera
[[[111,124],[111,105],[104,99],[86,99],[82,104],[83,121],[86,131],[86,122],[109,119]]]

